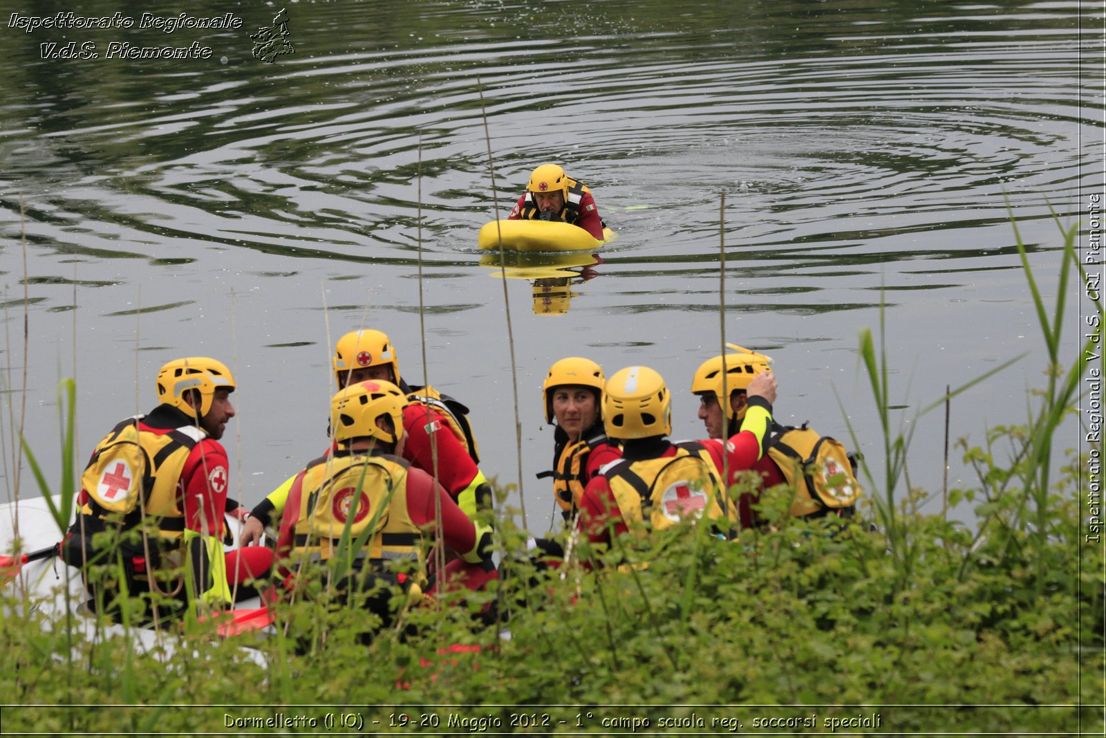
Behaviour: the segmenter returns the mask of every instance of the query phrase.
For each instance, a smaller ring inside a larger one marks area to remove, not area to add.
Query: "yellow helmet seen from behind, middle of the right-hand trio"
[[[649,438],[672,432],[671,395],[648,366],[618,370],[603,386],[603,424],[612,438]]]

